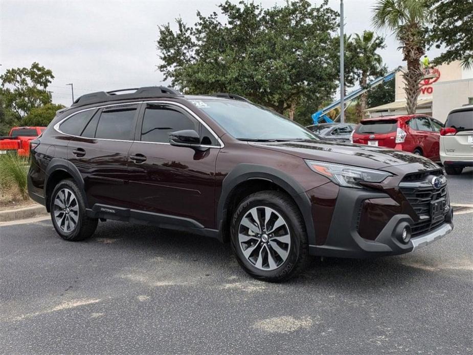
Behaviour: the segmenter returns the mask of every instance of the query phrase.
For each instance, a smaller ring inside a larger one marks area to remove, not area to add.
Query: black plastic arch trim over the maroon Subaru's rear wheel
[[[87,198],[85,198],[84,179],[82,179],[79,169],[65,159],[53,158],[46,168],[46,182],[44,183],[44,198],[48,212],[50,211],[50,198],[54,187],[59,181],[68,178],[73,179],[79,186],[82,196],[84,196],[85,207],[88,207]]]

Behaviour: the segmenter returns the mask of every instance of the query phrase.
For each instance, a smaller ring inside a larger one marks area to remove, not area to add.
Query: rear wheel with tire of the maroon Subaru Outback
[[[62,180],[51,195],[51,219],[65,240],[84,240],[94,234],[98,219],[87,217],[84,197],[72,180]]]

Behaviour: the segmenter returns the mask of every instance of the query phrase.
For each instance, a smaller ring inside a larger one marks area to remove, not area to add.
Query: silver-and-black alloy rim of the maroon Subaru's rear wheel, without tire
[[[57,226],[65,233],[76,228],[79,220],[79,204],[74,192],[70,189],[61,189],[54,198],[54,218]]]

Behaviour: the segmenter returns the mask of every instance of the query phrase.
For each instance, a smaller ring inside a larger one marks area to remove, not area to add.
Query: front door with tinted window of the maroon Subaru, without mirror
[[[169,144],[169,133],[194,129],[208,146],[199,151]],[[215,136],[187,108],[147,103],[128,156],[131,208],[190,218],[214,228]]]

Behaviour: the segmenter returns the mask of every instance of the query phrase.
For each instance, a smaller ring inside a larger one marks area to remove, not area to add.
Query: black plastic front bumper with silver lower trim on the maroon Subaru
[[[309,253],[344,258],[398,255],[429,245],[453,230],[453,210],[449,208],[440,226],[412,237],[408,243],[401,242],[399,229],[415,225],[409,214],[401,212],[393,214],[373,240],[363,238],[358,231],[361,206],[364,201],[378,198],[387,199],[390,196],[383,192],[340,188],[327,238],[321,245],[310,245]],[[317,220],[314,220],[314,224],[317,224]]]

